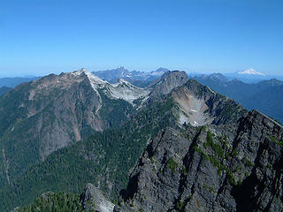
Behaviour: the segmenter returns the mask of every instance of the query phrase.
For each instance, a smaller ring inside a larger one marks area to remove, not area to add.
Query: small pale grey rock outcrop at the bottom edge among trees
[[[107,201],[103,193],[92,184],[87,184],[84,193],[80,195],[80,201],[84,211],[111,212],[114,208],[114,204]]]

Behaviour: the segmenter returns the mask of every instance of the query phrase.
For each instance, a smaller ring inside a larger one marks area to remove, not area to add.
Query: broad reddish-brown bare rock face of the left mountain
[[[84,128],[102,131],[106,127],[96,112],[101,108],[100,96],[91,89],[86,75],[50,75],[30,87],[23,107],[27,107],[27,120],[35,119],[30,134],[35,137],[40,134],[42,158],[81,140]]]

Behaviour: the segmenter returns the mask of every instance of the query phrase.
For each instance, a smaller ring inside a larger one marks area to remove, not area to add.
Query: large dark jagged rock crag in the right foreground
[[[114,211],[282,211],[283,128],[256,110],[235,125],[166,129]]]

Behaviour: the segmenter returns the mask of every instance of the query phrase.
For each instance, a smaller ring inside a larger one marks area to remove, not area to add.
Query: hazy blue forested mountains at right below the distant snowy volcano
[[[260,110],[283,123],[283,81],[263,80],[245,83],[239,79],[228,80],[221,73],[195,76],[194,79],[220,94],[240,102],[248,110]]]

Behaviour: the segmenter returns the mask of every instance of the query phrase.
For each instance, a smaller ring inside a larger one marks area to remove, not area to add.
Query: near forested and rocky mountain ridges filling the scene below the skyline
[[[146,87],[50,74],[0,111],[2,211],[283,208],[282,125],[186,72]]]

